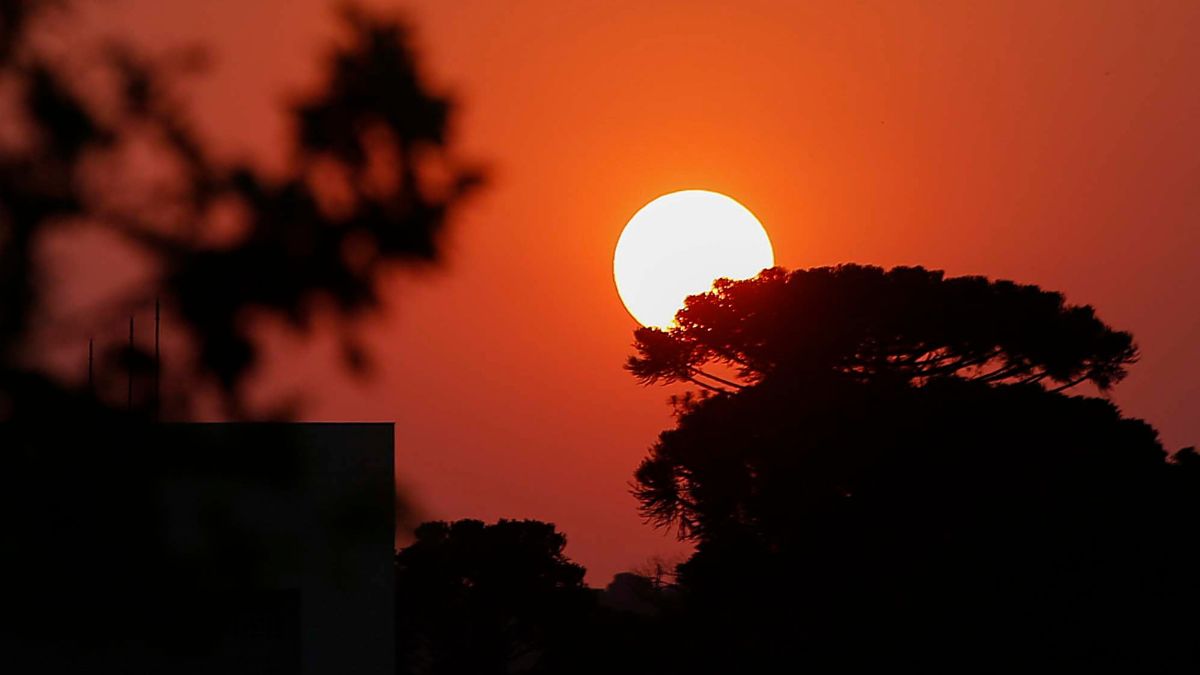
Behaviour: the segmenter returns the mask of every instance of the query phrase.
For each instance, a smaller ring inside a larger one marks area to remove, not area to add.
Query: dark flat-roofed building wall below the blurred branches
[[[6,652],[26,671],[392,673],[392,440],[391,424],[5,426]]]

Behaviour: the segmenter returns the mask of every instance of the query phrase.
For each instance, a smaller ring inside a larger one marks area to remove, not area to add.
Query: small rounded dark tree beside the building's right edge
[[[396,555],[401,671],[559,671],[594,605],[566,538],[534,520],[426,522]]]

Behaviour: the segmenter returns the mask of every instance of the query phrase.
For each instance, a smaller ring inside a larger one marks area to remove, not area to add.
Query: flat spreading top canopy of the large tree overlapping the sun
[[[846,264],[764,270],[692,295],[667,330],[642,328],[629,370],[643,382],[730,390],[775,374],[860,380],[1043,382],[1108,389],[1138,357],[1133,338],[1061,293],[924,268]],[[733,368],[743,382],[712,372]]]

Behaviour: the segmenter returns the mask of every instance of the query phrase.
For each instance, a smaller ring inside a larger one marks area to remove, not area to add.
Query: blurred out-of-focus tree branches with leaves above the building
[[[150,261],[154,280],[115,300],[114,313],[162,299],[188,338],[179,360],[194,364],[194,381],[179,388],[185,406],[206,384],[229,416],[254,414],[244,383],[260,317],[308,331],[332,315],[346,365],[365,370],[355,325],[382,309],[380,275],[434,259],[448,213],[479,181],[449,149],[450,102],[420,79],[403,28],[343,12],[350,40],[329,58],[320,89],[292,109],[289,165],[268,173],[217,157],[193,131],[174,95],[193,56],[149,60],[122,44],[77,52],[107,78],[89,79],[41,49],[40,26],[61,19],[58,5],[0,2],[0,77],[19,113],[0,135],[5,417],[73,401],[70,382],[40,370],[28,344],[42,300],[37,252],[62,231],[115,234]],[[152,157],[154,180],[128,167],[134,149]]]

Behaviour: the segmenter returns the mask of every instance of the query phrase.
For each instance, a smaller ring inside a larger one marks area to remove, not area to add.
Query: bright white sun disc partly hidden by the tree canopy
[[[629,219],[617,240],[617,293],[642,325],[667,328],[688,295],[713,281],[749,279],[775,262],[762,223],[731,197],[708,190],[664,195]]]

